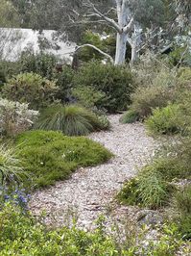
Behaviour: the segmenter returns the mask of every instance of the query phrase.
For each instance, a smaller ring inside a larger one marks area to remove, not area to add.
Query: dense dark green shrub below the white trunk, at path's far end
[[[84,64],[73,80],[75,88],[91,86],[105,92],[108,99],[103,107],[110,113],[124,110],[130,104],[132,83],[129,68],[97,62]]]

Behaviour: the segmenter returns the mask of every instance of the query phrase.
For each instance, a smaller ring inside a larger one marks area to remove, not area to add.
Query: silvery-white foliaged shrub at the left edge
[[[0,134],[15,136],[30,128],[38,115],[29,110],[29,104],[0,98]]]

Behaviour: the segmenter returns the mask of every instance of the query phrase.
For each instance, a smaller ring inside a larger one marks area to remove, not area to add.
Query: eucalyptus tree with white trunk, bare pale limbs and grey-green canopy
[[[87,28],[100,31],[101,35],[105,31],[115,33],[114,64],[125,63],[127,44],[131,45],[131,63],[134,63],[144,42],[150,43],[151,38],[157,37],[157,32],[161,31],[159,27],[164,23],[164,1],[55,0],[53,5],[52,0],[12,0],[23,15],[23,26],[62,31],[64,36],[77,43]],[[82,47],[97,49],[95,45],[86,44],[77,50]]]

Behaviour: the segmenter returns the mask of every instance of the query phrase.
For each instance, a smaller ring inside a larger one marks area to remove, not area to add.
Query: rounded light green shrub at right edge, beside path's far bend
[[[177,134],[184,131],[184,118],[179,105],[171,104],[163,109],[155,109],[145,124],[153,134]]]

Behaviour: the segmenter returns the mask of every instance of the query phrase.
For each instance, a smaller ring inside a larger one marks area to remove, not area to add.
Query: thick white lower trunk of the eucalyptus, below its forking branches
[[[127,34],[117,33],[115,65],[125,64],[127,50]]]

